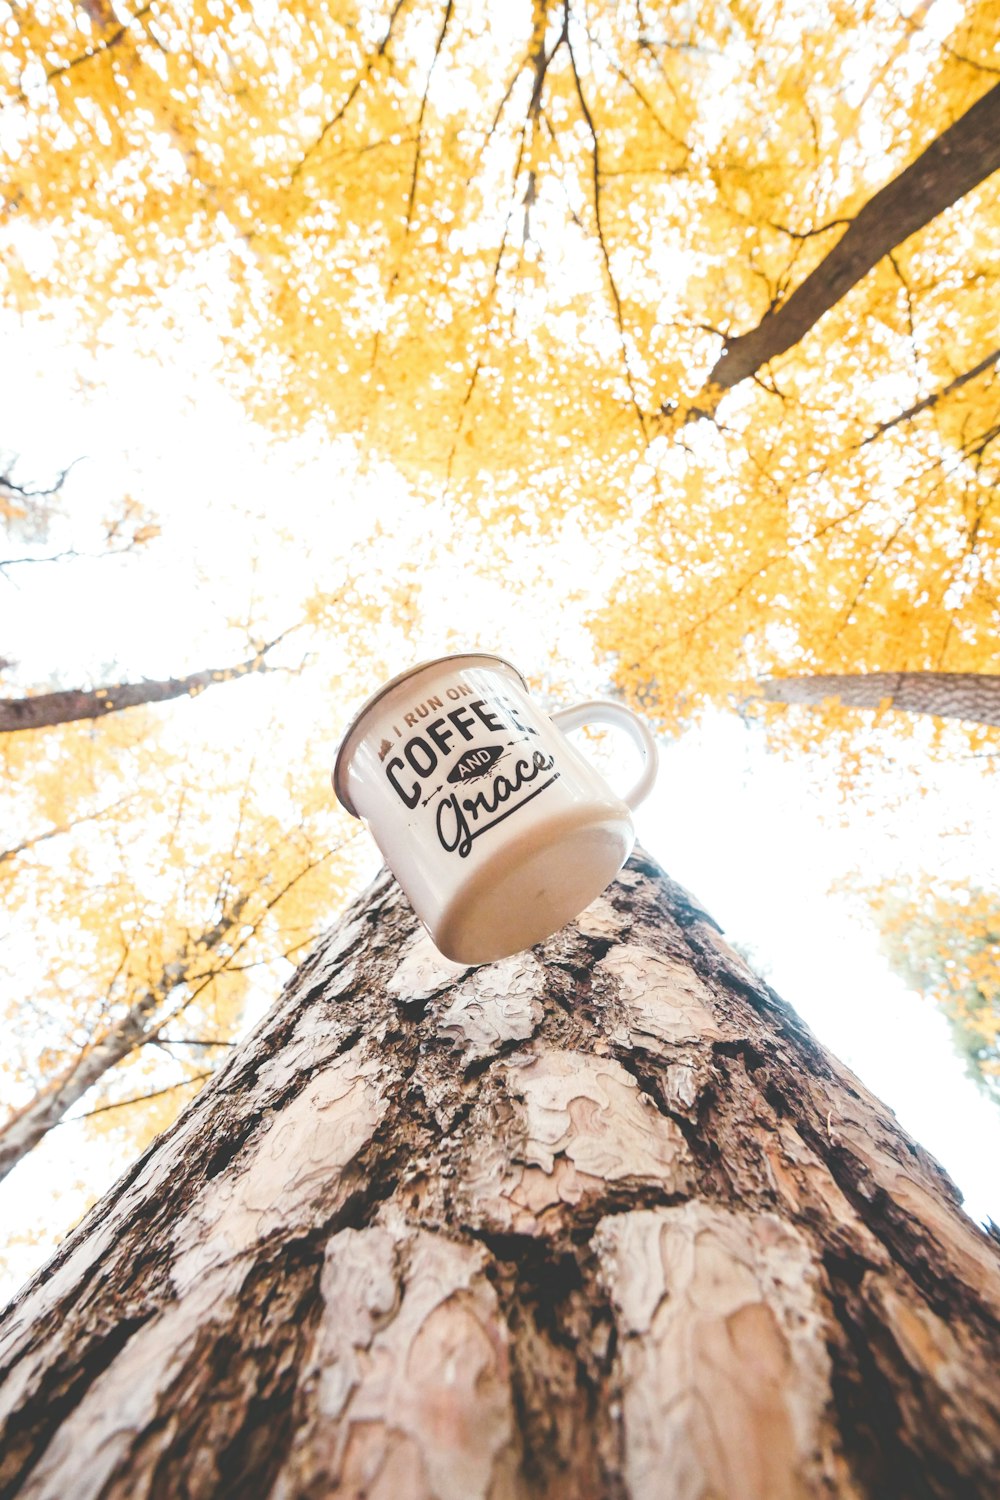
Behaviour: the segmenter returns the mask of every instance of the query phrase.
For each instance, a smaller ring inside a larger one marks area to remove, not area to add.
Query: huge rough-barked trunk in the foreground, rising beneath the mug
[[[645,856],[475,970],[382,876],[6,1314],[0,1492],[993,1497],[958,1203]]]

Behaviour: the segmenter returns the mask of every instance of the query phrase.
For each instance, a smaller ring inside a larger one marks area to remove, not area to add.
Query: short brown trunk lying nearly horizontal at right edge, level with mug
[[[838,698],[849,708],[885,704],[909,714],[1000,724],[1000,675],[984,672],[831,672],[775,676],[762,687],[772,704],[817,706]]]

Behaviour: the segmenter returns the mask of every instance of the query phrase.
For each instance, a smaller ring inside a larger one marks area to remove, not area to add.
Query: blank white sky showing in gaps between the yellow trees
[[[156,676],[223,664],[232,660],[226,616],[256,606],[279,627],[289,622],[307,586],[336,586],[349,546],[376,520],[385,526],[387,590],[435,526],[450,524],[429,518],[385,476],[358,478],[346,448],[268,448],[204,374],[208,351],[174,351],[159,366],[117,352],[81,390],[72,374],[79,356],[60,346],[57,330],[7,321],[0,333],[0,446],[24,454],[21,477],[43,480],[85,454],[67,490],[78,518],[132,490],[163,525],[138,558],[25,567],[0,579],[0,645],[25,681],[52,670],[76,684],[105,668]],[[469,579],[469,560],[427,562],[408,660],[391,670],[454,650],[442,621],[451,632],[468,621],[463,644],[492,646],[526,674],[547,669],[561,698],[600,690],[604,670],[583,614],[615,574],[612,549],[594,550],[568,528],[516,610],[504,568],[490,572],[489,558],[478,566],[486,576]],[[319,735],[331,752],[352,706],[310,704],[303,738]],[[252,734],[261,694],[226,686],[196,712],[207,734]],[[625,780],[628,764],[612,758],[609,774]],[[874,933],[831,894],[852,870],[877,878],[939,868],[945,848],[957,873],[988,873],[1000,846],[996,801],[984,807],[975,765],[931,766],[918,741],[882,792],[876,786],[864,806],[843,808],[829,768],[768,754],[759,730],[718,714],[664,747],[660,784],[639,824],[646,848],[939,1156],[969,1210],[1000,1218],[1000,1112],[964,1077],[943,1018],[892,976]],[[942,832],[964,824],[973,806],[975,834],[943,843]],[[123,1164],[112,1140],[88,1140],[67,1122],[0,1185],[0,1224],[10,1238],[0,1294],[16,1288]],[[21,1244],[34,1227],[42,1244]]]

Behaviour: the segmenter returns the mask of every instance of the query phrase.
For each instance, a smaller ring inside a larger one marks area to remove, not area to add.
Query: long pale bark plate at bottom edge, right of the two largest
[[[604,1220],[595,1245],[622,1336],[631,1500],[832,1494],[831,1366],[801,1234],[685,1203]]]

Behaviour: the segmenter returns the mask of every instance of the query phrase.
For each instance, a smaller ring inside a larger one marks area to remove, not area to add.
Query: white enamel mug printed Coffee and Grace
[[[562,730],[625,729],[642,776],[618,796]],[[631,810],[657,746],[613,702],[546,714],[520,672],[484,652],[411,668],[351,720],[333,768],[438,950],[489,963],[577,916],[631,854]]]

